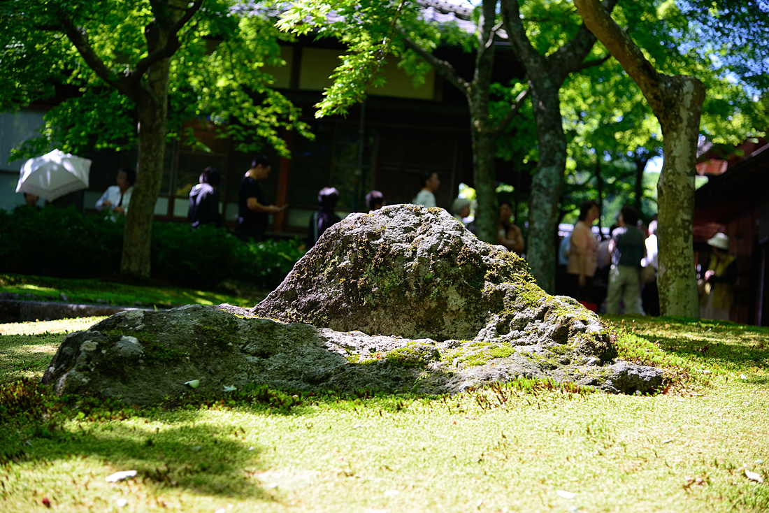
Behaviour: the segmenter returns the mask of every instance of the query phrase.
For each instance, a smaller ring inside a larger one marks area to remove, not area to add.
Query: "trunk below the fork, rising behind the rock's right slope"
[[[529,72],[531,77],[532,73]],[[555,291],[555,233],[558,228],[558,199],[566,170],[566,138],[561,122],[560,84],[540,85],[530,81],[531,104],[537,124],[539,161],[531,180],[527,259],[537,284],[550,294]]]

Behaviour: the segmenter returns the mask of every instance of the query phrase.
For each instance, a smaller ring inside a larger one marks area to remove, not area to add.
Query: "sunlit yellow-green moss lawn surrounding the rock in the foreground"
[[[2,335],[0,510],[767,511],[769,330],[610,321],[621,354],[670,372],[665,394],[256,387],[135,410],[35,386],[56,328]]]

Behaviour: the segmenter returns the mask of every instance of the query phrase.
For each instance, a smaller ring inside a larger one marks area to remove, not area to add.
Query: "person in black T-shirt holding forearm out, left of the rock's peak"
[[[251,162],[251,167],[241,179],[241,185],[238,188],[238,223],[235,225],[235,235],[243,241],[265,240],[268,215],[282,210],[275,205],[266,205],[265,195],[259,186],[259,182],[268,178],[271,169],[270,159],[261,155]]]

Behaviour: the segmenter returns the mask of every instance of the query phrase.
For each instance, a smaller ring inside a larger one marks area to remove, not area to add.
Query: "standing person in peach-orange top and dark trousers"
[[[593,236],[593,223],[601,215],[597,202],[583,202],[579,217],[571,231],[569,240],[569,261],[566,272],[570,282],[571,297],[577,301],[594,305],[593,278],[598,268],[598,242]]]

